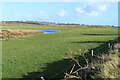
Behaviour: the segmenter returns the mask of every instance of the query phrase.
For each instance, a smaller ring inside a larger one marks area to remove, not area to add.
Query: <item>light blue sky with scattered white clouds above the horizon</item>
[[[117,2],[2,2],[2,20],[118,25]]]

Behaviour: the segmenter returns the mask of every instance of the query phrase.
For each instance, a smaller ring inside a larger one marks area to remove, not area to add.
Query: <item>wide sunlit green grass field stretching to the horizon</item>
[[[23,75],[27,75],[30,72],[41,72],[41,75],[44,76],[45,73],[42,72],[44,72],[48,63],[59,62],[67,58],[65,53],[68,47],[72,51],[78,51],[79,49],[84,51],[96,48],[118,37],[118,28],[112,27],[46,26],[22,23],[2,24],[2,26],[4,29],[61,31],[59,33],[39,34],[24,38],[27,40],[2,41],[3,78],[22,78]],[[64,66],[60,63],[57,65],[52,65],[53,67],[48,72],[48,77],[61,71],[60,67]]]

